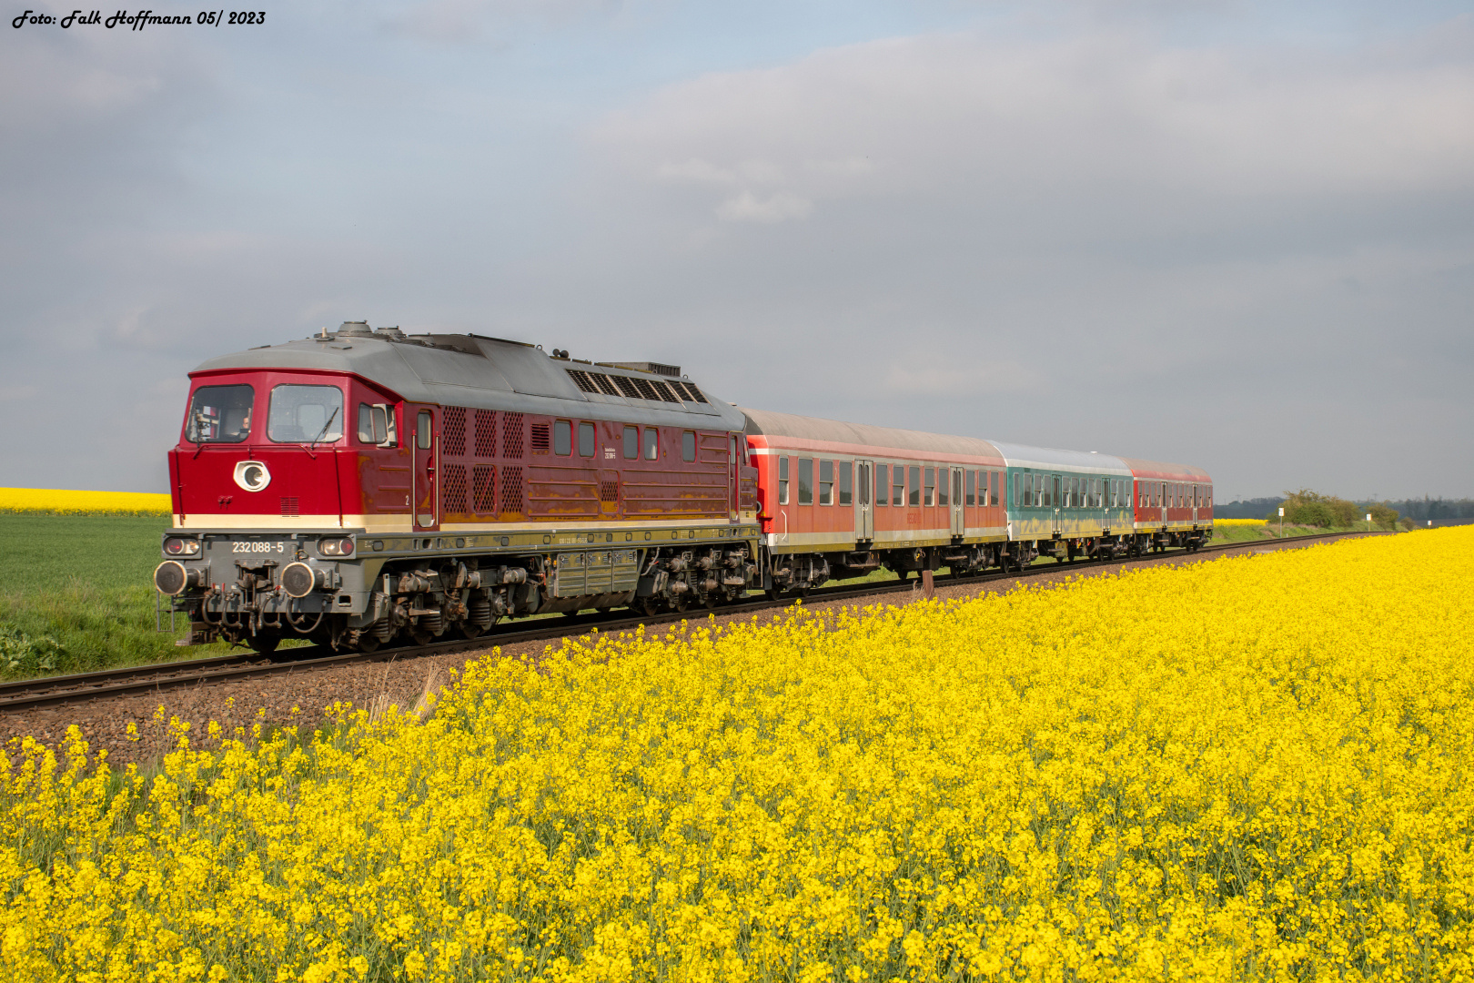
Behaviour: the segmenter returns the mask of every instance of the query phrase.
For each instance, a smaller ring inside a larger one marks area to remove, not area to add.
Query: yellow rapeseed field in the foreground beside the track
[[[600,640],[150,778],[25,744],[0,976],[1468,980],[1471,556]]]

